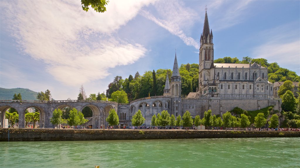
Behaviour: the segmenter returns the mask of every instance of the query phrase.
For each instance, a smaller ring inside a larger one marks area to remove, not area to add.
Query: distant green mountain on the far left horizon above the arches
[[[21,94],[23,100],[38,100],[36,96],[38,92],[24,89],[24,88],[13,88],[6,89],[0,88],[0,100],[12,100],[14,94]]]

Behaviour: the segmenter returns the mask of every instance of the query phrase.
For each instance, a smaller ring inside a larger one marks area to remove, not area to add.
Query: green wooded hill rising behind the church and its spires
[[[215,63],[260,63],[263,67],[268,67],[268,80],[272,83],[277,81],[291,80],[299,82],[300,77],[293,71],[281,68],[277,62],[268,63],[267,59],[252,59],[243,57],[240,61],[238,58],[224,57],[214,60]],[[112,83],[108,85],[106,96],[111,98],[114,91],[125,91],[128,100],[150,96],[160,96],[164,93],[167,72],[169,80],[172,76],[170,69],[158,69],[153,71],[145,71],[143,75],[137,72],[134,76],[129,75],[125,80],[121,76],[116,76]],[[182,64],[179,67],[179,73],[182,81],[182,95],[185,96],[190,92],[195,92],[199,81],[199,65],[198,64]]]

